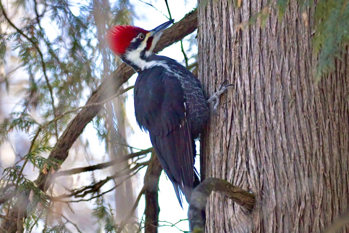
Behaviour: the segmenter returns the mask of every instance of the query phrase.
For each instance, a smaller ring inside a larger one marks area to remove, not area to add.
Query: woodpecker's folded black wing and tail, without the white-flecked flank
[[[194,182],[194,154],[189,109],[177,77],[163,67],[142,71],[134,87],[136,120],[148,130],[180,205],[179,189],[186,199]]]

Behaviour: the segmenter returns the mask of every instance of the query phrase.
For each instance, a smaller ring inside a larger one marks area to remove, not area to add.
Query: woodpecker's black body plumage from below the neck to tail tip
[[[163,169],[173,183],[190,197],[199,179],[194,172],[195,138],[209,111],[199,80],[184,66],[168,57],[153,56],[154,66],[138,71],[134,106],[139,126],[148,130]]]

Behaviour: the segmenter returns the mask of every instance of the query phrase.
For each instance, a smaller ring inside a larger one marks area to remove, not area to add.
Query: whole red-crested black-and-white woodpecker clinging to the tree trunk
[[[199,80],[177,61],[153,53],[163,30],[174,20],[147,31],[120,25],[109,30],[110,49],[138,72],[134,86],[134,108],[138,125],[147,130],[160,163],[171,180],[179,204],[179,190],[187,201],[200,183],[194,172],[195,139],[208,116],[208,102],[216,101],[227,88],[220,86],[208,101]],[[223,83],[222,83],[223,84]]]

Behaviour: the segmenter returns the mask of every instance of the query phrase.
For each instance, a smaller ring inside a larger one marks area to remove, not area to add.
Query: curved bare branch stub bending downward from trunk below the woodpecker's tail
[[[220,192],[225,197],[232,199],[247,210],[253,209],[254,194],[234,186],[228,181],[208,178],[194,189],[190,197],[188,210],[190,232],[205,232],[205,217],[203,216],[203,211],[205,211],[207,198],[212,191]]]

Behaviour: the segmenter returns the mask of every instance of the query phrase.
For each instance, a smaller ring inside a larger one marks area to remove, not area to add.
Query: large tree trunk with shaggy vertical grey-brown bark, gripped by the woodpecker
[[[321,232],[348,209],[348,48],[317,82],[313,7],[290,0],[280,17],[265,1],[238,4],[198,4],[199,79],[208,95],[225,79],[235,85],[211,114],[201,166],[256,204],[249,214],[211,195],[206,232]],[[265,22],[248,25],[259,12]]]

